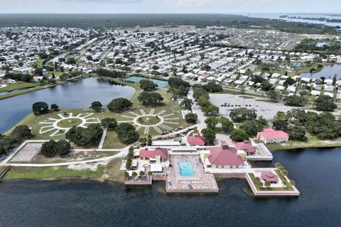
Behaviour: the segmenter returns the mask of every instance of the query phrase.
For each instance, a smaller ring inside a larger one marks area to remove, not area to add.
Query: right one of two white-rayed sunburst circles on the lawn
[[[141,114],[136,114],[133,111],[129,112],[128,115],[121,115],[121,117],[129,118],[127,121],[119,121],[119,123],[132,123],[136,127],[136,131],[140,128],[144,128],[144,134],[148,135],[149,128],[154,128],[156,132],[163,133],[163,130],[171,131],[173,130],[173,126],[178,125],[178,122],[174,122],[174,120],[178,120],[179,118],[171,117],[174,114],[167,114],[167,111],[163,110],[158,114],[154,114],[154,109],[147,114],[143,109],[140,109]]]

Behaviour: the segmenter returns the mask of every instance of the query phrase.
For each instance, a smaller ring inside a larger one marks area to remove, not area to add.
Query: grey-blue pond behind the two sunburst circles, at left
[[[109,82],[87,78],[77,82],[43,89],[37,92],[0,100],[0,133],[13,127],[32,111],[32,104],[45,101],[58,104],[60,108],[89,108],[92,101],[100,101],[103,106],[112,99],[124,97],[131,99],[135,89],[129,86],[110,84]]]

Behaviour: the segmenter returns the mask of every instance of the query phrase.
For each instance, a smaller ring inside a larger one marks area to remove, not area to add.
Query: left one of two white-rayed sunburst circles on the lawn
[[[50,133],[49,136],[58,136],[67,133],[73,126],[87,128],[89,123],[101,123],[99,118],[91,117],[92,113],[77,114],[73,113],[57,114],[55,118],[48,118],[46,121],[39,122],[44,125],[39,129],[39,134]]]

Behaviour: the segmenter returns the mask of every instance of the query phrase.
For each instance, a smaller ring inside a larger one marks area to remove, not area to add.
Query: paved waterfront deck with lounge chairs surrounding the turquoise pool
[[[215,176],[205,173],[199,155],[170,155],[172,167],[166,168],[166,192],[168,193],[217,193]],[[178,162],[191,162],[193,176],[180,175]],[[188,186],[190,185],[190,187]]]

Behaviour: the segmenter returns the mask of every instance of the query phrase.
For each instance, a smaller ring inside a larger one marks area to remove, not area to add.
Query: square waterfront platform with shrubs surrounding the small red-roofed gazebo
[[[295,186],[290,184],[290,179],[284,176],[278,170],[274,168],[254,168],[253,172],[249,172],[245,174],[247,178],[247,182],[251,187],[254,196],[299,196],[300,192],[296,189]],[[282,182],[282,187],[266,187],[260,186],[256,182],[256,172],[276,172],[276,175]]]

